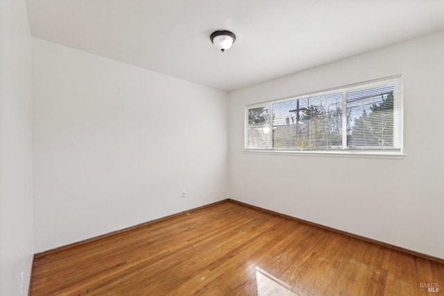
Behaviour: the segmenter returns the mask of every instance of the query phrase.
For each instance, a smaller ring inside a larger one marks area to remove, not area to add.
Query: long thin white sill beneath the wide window
[[[275,149],[244,149],[246,154],[275,154],[291,156],[323,156],[323,157],[348,157],[348,158],[384,158],[384,159],[404,159],[407,155],[400,151],[294,151]]]

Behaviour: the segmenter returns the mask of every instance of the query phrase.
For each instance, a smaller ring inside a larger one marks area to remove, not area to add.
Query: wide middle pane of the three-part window
[[[276,149],[341,149],[342,92],[273,104]]]

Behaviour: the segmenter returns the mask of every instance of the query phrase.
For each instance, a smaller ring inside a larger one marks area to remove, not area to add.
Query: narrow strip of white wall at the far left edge
[[[31,66],[25,1],[0,0],[0,295],[8,296],[27,293],[33,258]]]

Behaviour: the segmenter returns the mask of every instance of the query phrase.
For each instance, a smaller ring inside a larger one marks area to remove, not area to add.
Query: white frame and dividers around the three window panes
[[[387,84],[394,85],[395,95],[393,96],[393,147],[381,147],[370,149],[366,147],[347,147],[347,133],[342,133],[342,148],[341,149],[329,149],[329,150],[309,150],[309,149],[275,149],[273,148],[273,104],[283,101],[292,101],[296,99],[305,99],[307,97],[314,97],[321,94],[329,94],[334,92],[342,92],[342,108],[345,112],[342,113],[342,131],[347,130],[347,92],[356,90],[365,90],[367,88],[377,88],[378,86],[384,86]],[[345,155],[345,156],[404,156],[404,95],[403,95],[403,77],[402,75],[389,76],[382,79],[375,79],[372,81],[364,81],[361,83],[354,83],[351,85],[345,85],[339,88],[331,88],[328,90],[321,90],[318,92],[309,92],[306,94],[299,94],[283,99],[275,99],[271,101],[264,101],[260,103],[250,104],[245,106],[244,113],[244,151],[249,153],[271,153],[271,154],[304,154],[304,155]],[[268,118],[270,125],[270,143],[271,147],[268,148],[248,148],[248,110],[252,108],[259,108],[268,106]]]

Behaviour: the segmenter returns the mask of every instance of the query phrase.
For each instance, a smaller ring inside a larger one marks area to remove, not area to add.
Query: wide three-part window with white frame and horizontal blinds
[[[402,154],[402,77],[246,106],[250,151]]]

